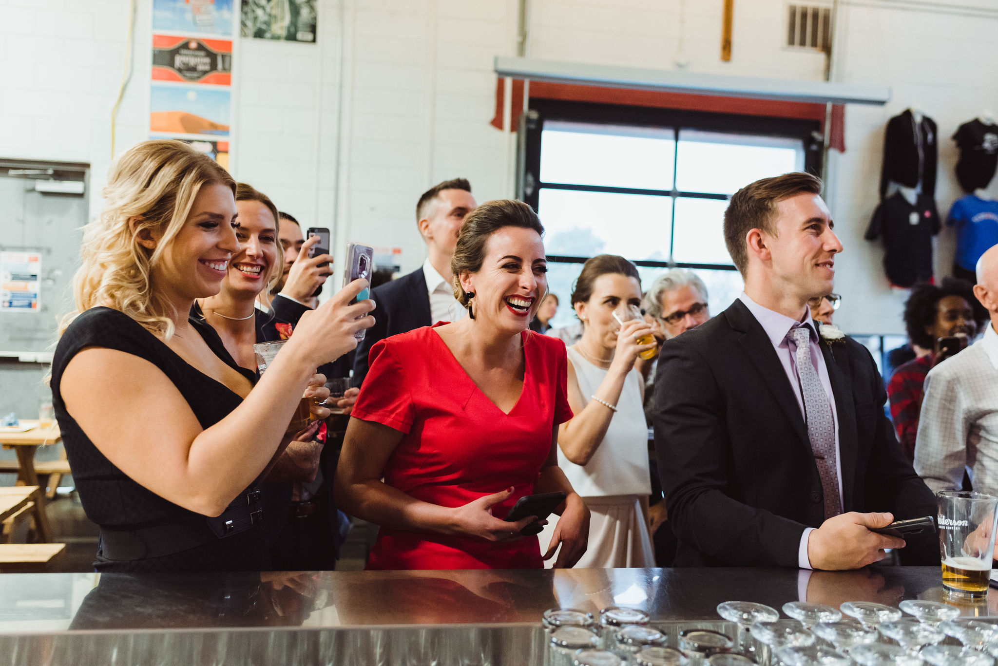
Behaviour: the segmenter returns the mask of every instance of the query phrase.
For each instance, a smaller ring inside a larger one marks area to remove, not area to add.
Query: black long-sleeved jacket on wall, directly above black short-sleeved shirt
[[[928,116],[916,123],[911,111],[905,109],[887,121],[880,199],[887,194],[888,181],[906,188],[921,184],[921,194],[934,198],[937,143],[936,124]]]

